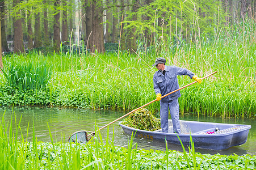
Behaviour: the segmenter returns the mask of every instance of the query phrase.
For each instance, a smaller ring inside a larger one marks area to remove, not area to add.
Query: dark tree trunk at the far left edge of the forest
[[[10,52],[8,48],[7,40],[6,40],[6,30],[5,30],[5,1],[0,1],[1,6],[1,37],[2,37],[2,50],[3,52]]]

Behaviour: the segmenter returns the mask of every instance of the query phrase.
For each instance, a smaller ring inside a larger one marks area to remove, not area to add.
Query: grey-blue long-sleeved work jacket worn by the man
[[[162,72],[158,70],[153,76],[154,91],[156,94],[162,94],[162,96],[179,88],[177,75],[187,75],[190,76],[191,79],[195,75],[190,70],[177,66],[165,66],[165,70],[165,75],[163,75]],[[161,101],[167,102],[170,100],[178,99],[178,97],[181,97],[180,91],[163,97]]]

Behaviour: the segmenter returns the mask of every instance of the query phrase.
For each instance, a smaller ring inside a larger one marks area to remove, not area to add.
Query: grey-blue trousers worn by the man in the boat
[[[173,133],[181,133],[181,125],[179,124],[179,101],[174,99],[168,102],[160,101],[160,118],[162,132],[168,133],[168,114],[169,109],[171,113],[171,120],[173,121]]]

